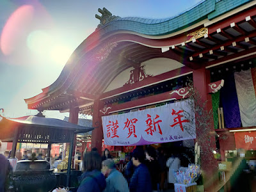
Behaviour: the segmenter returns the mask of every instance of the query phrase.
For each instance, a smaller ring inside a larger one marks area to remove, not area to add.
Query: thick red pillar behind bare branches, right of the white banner
[[[209,113],[212,110],[212,100],[211,95],[207,94],[207,86],[211,83],[210,81],[210,72],[205,67],[193,70],[193,86],[195,93],[200,97],[198,100],[195,99],[195,108],[204,109],[204,111],[199,112],[201,114],[196,114],[196,141],[201,147],[200,157],[205,191],[213,191],[216,176],[218,178],[218,163],[212,153],[212,150],[216,149],[213,115]],[[205,115],[208,117],[205,118]],[[204,127],[199,123],[204,121],[203,118],[209,119],[207,122],[209,126]]]

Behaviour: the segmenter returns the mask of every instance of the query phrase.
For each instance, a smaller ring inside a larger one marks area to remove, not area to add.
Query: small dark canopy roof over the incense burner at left
[[[19,143],[67,143],[74,134],[92,130],[93,127],[42,116],[0,117],[0,140],[6,142],[12,142],[17,134]]]

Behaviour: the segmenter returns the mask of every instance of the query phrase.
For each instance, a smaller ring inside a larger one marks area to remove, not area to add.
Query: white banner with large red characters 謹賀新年
[[[195,112],[188,100],[120,115],[102,116],[104,143],[129,146],[196,138]]]

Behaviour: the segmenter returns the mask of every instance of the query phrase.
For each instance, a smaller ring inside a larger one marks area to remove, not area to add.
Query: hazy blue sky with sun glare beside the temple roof
[[[68,56],[92,33],[98,8],[120,17],[173,17],[200,0],[1,0],[0,108],[5,116],[35,115],[24,99],[33,97],[60,75]],[[99,14],[100,15],[100,14]],[[63,119],[67,113],[47,112]]]

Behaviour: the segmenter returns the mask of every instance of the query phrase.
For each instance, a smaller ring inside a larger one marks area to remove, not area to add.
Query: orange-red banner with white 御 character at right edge
[[[235,132],[236,148],[256,150],[256,131]]]

